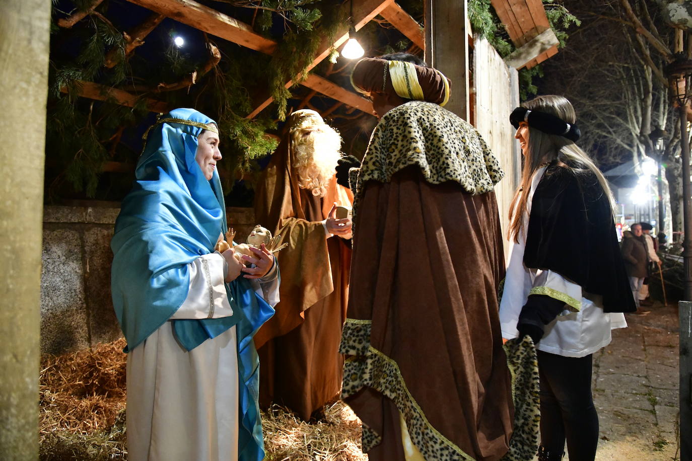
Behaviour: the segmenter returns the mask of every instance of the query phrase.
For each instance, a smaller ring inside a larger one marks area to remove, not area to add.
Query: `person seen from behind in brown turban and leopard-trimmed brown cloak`
[[[352,84],[380,119],[352,184],[340,349],[363,451],[371,461],[499,460],[514,413],[498,317],[493,187],[504,173],[473,126],[442,108],[448,79],[420,59],[362,59]]]

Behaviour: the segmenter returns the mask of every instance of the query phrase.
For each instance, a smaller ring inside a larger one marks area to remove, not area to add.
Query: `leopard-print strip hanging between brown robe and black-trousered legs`
[[[540,422],[536,347],[529,336],[525,336],[522,341],[509,339],[502,347],[507,354],[514,402],[514,431],[509,440],[509,451],[502,461],[533,460],[538,451]]]

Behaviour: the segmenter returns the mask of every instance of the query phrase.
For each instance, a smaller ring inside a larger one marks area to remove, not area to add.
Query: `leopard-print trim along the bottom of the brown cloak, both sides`
[[[399,366],[370,346],[370,320],[346,319],[339,352],[350,357],[344,364],[341,398],[354,395],[368,386],[394,402],[406,420],[411,440],[426,460],[473,460],[437,431],[406,387]],[[509,451],[502,461],[529,461],[538,451],[538,359],[531,337],[504,344],[507,366],[512,377],[514,431]],[[363,424],[363,453],[381,442],[381,436]]]

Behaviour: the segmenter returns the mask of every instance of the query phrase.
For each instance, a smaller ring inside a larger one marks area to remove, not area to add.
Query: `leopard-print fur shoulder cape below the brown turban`
[[[430,184],[453,180],[474,195],[492,191],[504,176],[471,124],[438,104],[407,102],[386,113],[370,136],[356,180],[354,216],[365,182],[388,182],[413,164]]]

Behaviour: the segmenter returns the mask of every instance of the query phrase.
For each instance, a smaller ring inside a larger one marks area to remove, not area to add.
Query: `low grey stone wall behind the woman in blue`
[[[110,242],[120,209],[44,207],[41,277],[41,351],[90,348],[118,339],[111,302]],[[254,225],[251,208],[229,208],[230,226],[244,241]]]

